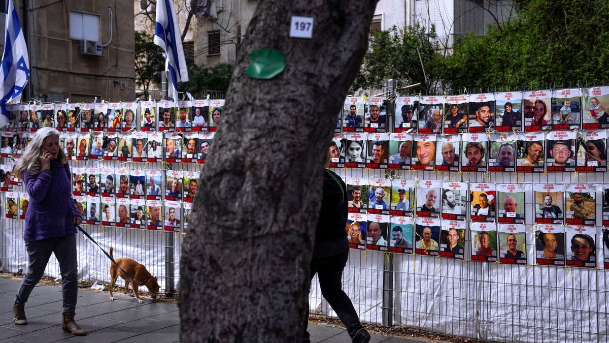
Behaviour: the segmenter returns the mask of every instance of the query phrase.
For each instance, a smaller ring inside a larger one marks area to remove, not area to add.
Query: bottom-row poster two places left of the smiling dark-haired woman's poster
[[[526,226],[499,224],[499,262],[527,264]]]

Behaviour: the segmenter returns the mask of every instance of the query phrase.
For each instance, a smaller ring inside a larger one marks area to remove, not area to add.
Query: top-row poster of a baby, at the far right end
[[[582,129],[609,129],[608,105],[609,86],[582,88]]]

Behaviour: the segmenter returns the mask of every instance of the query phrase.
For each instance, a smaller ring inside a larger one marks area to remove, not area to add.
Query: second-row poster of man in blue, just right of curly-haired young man
[[[490,135],[488,171],[513,173],[516,170],[516,139],[518,134],[495,132]]]

